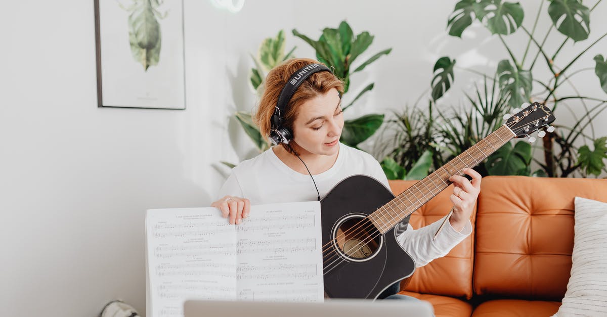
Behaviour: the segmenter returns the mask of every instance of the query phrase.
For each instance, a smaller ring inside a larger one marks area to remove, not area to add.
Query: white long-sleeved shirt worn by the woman
[[[390,190],[388,179],[373,156],[342,143],[338,145],[339,153],[333,166],[313,176],[321,199],[337,183],[353,175],[373,177]],[[217,200],[226,195],[249,199],[251,205],[317,200],[316,188],[310,175],[291,169],[271,148],[232,169],[219,190]],[[398,241],[418,267],[449,253],[449,250],[472,233],[470,222],[460,232],[455,231],[447,222],[436,240],[432,240],[441,222],[443,219],[418,230],[413,230],[409,225],[407,230],[398,235]]]

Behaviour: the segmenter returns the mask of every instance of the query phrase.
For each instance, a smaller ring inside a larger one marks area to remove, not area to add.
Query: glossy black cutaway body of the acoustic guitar
[[[325,291],[331,298],[375,299],[415,271],[415,262],[396,241],[395,228],[381,235],[370,222],[364,222],[364,217],[394,198],[382,183],[356,175],[342,180],[320,200],[322,244],[333,248],[329,256],[323,254]],[[408,221],[407,217],[405,224]],[[375,237],[371,250],[357,244],[364,240],[360,236],[343,238],[339,227],[347,229],[348,222],[350,228],[366,228],[368,236]],[[342,242],[341,250],[337,250],[339,244],[332,244],[334,239]],[[354,250],[350,256],[343,250],[348,245]]]

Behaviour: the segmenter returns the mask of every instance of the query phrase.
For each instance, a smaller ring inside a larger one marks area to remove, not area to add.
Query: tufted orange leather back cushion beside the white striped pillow
[[[606,201],[607,182],[484,177],[476,213],[475,294],[561,301],[571,270],[575,196]]]

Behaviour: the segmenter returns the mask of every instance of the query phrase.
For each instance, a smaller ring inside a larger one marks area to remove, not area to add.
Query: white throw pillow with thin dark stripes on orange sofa
[[[607,316],[607,203],[575,197],[574,230],[571,277],[554,316]]]

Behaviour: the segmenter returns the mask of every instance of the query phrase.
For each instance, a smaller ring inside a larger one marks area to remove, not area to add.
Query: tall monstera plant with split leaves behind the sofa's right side
[[[576,61],[580,58],[588,58],[585,53],[607,36],[607,33],[604,33],[592,43],[578,49],[582,45],[580,43],[589,38],[591,32],[590,16],[592,10],[600,1],[595,2],[591,8],[578,0],[549,1],[546,12],[552,24],[545,32],[543,39],[540,39],[537,37],[536,28],[540,14],[544,12],[544,3],[546,2],[540,2],[535,21],[532,21],[533,27],[529,30],[523,26],[524,11],[518,2],[462,0],[455,4],[455,9],[447,20],[447,31],[449,35],[461,37],[473,21],[478,21],[489,30],[492,36],[497,36],[500,39],[509,58],[497,63],[497,76],[494,80],[497,81],[500,90],[499,98],[507,97],[509,108],[518,108],[523,103],[539,101],[551,107],[557,117],[557,123],[560,113],[569,115],[568,112],[557,110],[561,106],[569,107],[569,111],[577,114],[576,121],[572,126],[555,124],[556,130],[547,133],[542,138],[543,146],[540,149],[544,155],[543,161],[535,160],[541,167],[541,171],[537,171],[536,174],[549,177],[567,177],[578,172],[582,176],[588,176],[589,174],[599,176],[602,172],[607,171],[605,168],[607,137],[594,137],[592,121],[607,107],[607,95],[587,96],[577,93],[566,95],[565,93],[560,94],[561,89],[559,88],[563,83],[568,83],[577,91],[574,85],[575,81],[571,80],[571,77],[579,72],[594,70],[598,77],[595,84],[607,93],[607,63],[603,55],[596,55],[592,59],[595,64],[594,69],[572,69]],[[546,42],[553,29],[560,33],[561,43],[558,45],[558,49],[550,53]],[[515,32],[523,32],[528,38],[523,52],[517,52],[515,49],[518,47],[507,44],[504,39]],[[572,44],[576,44],[572,49],[578,50],[578,53],[569,60],[562,60],[561,55],[559,55],[561,49],[565,46],[572,46]],[[531,47],[534,47],[534,49],[530,50]],[[535,55],[533,53],[529,54],[533,50],[536,51]],[[541,79],[534,75],[534,69],[538,64],[536,62],[540,60],[545,63],[546,69],[551,73],[549,78]],[[455,80],[454,68],[455,60],[448,56],[441,57],[436,61],[435,77],[432,81],[433,101],[443,97],[452,86]],[[484,76],[487,77],[487,75]],[[539,86],[539,89],[534,90],[534,85]],[[571,101],[574,100],[577,100],[578,103],[572,106]],[[594,105],[588,106],[586,104],[590,102]],[[504,109],[504,112],[509,110]],[[479,114],[484,115],[481,112]],[[465,117],[466,115],[459,115],[459,117],[462,116]],[[485,135],[476,135],[475,138],[482,138]],[[449,140],[449,137],[447,137],[447,140]],[[586,143],[586,145],[578,147],[577,144],[580,141]],[[560,151],[555,149],[555,145],[559,146]],[[492,166],[487,168],[489,174],[503,174],[506,171],[504,169],[506,166],[510,166],[509,172],[517,170],[515,174],[531,172],[521,165],[521,161],[527,162],[527,165],[531,162],[531,146],[507,144],[505,147],[487,160],[487,163]],[[591,147],[594,149],[591,149]],[[520,162],[507,162],[513,157],[518,158]]]

